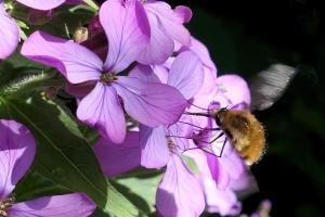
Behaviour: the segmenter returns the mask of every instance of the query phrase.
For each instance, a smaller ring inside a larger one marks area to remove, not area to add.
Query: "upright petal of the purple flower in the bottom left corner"
[[[0,201],[28,170],[35,150],[35,139],[25,126],[0,119]]]

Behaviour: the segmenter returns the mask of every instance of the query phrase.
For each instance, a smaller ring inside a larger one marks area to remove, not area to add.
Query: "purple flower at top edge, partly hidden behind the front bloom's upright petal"
[[[174,10],[164,1],[141,1],[150,23],[150,43],[138,56],[142,64],[162,64],[172,54],[174,41],[191,44],[191,34],[183,26],[192,17],[191,9]]]

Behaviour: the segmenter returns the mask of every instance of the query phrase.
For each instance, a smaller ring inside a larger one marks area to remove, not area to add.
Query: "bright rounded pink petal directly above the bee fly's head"
[[[219,86],[219,93],[216,101],[224,102],[221,106],[226,106],[226,101],[231,105],[245,104],[250,105],[250,91],[247,82],[237,75],[223,75],[218,77],[217,85]]]

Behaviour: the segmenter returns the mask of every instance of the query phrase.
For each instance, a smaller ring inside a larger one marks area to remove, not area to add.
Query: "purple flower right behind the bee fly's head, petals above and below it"
[[[250,92],[246,81],[242,77],[237,75],[223,75],[218,77],[214,80],[214,84],[218,90],[213,95],[208,95],[211,106],[227,106],[229,108],[234,110],[243,110],[249,106]],[[195,98],[196,97],[197,95],[195,95]],[[200,95],[200,98],[202,97],[203,95]],[[202,99],[197,99],[194,102],[203,102],[202,104],[196,104],[199,106],[206,105],[206,101]],[[197,111],[197,107],[195,106],[191,106],[190,111],[192,110],[192,107],[193,110]],[[205,122],[200,122],[200,124],[203,123],[206,124]],[[217,128],[218,126],[213,119],[208,118],[207,124],[200,127]],[[211,144],[200,141],[211,141],[220,133],[220,130],[198,131],[194,136],[194,141],[196,141],[199,146],[208,148],[210,152],[219,156],[223,148],[225,136],[221,137]],[[222,156],[220,158],[216,158],[212,154],[206,155],[210,168],[210,174],[214,179],[218,189],[220,190],[226,189],[232,180],[237,179],[245,171],[245,165],[242,161],[242,157],[237,154],[230,142],[226,142],[224,144],[224,151],[222,152]]]

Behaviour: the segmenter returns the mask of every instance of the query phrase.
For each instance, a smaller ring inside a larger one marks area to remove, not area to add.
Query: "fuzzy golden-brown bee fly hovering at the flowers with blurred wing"
[[[283,94],[295,74],[295,68],[283,64],[271,65],[266,71],[259,73],[249,84],[252,98],[251,110],[269,108]],[[264,128],[248,110],[237,111],[222,107],[211,110],[209,113],[185,112],[184,114],[214,119],[220,128],[210,130],[222,130],[222,133],[208,143],[214,142],[223,135],[226,136],[220,156],[226,140],[230,140],[248,165],[258,162],[264,153]]]

